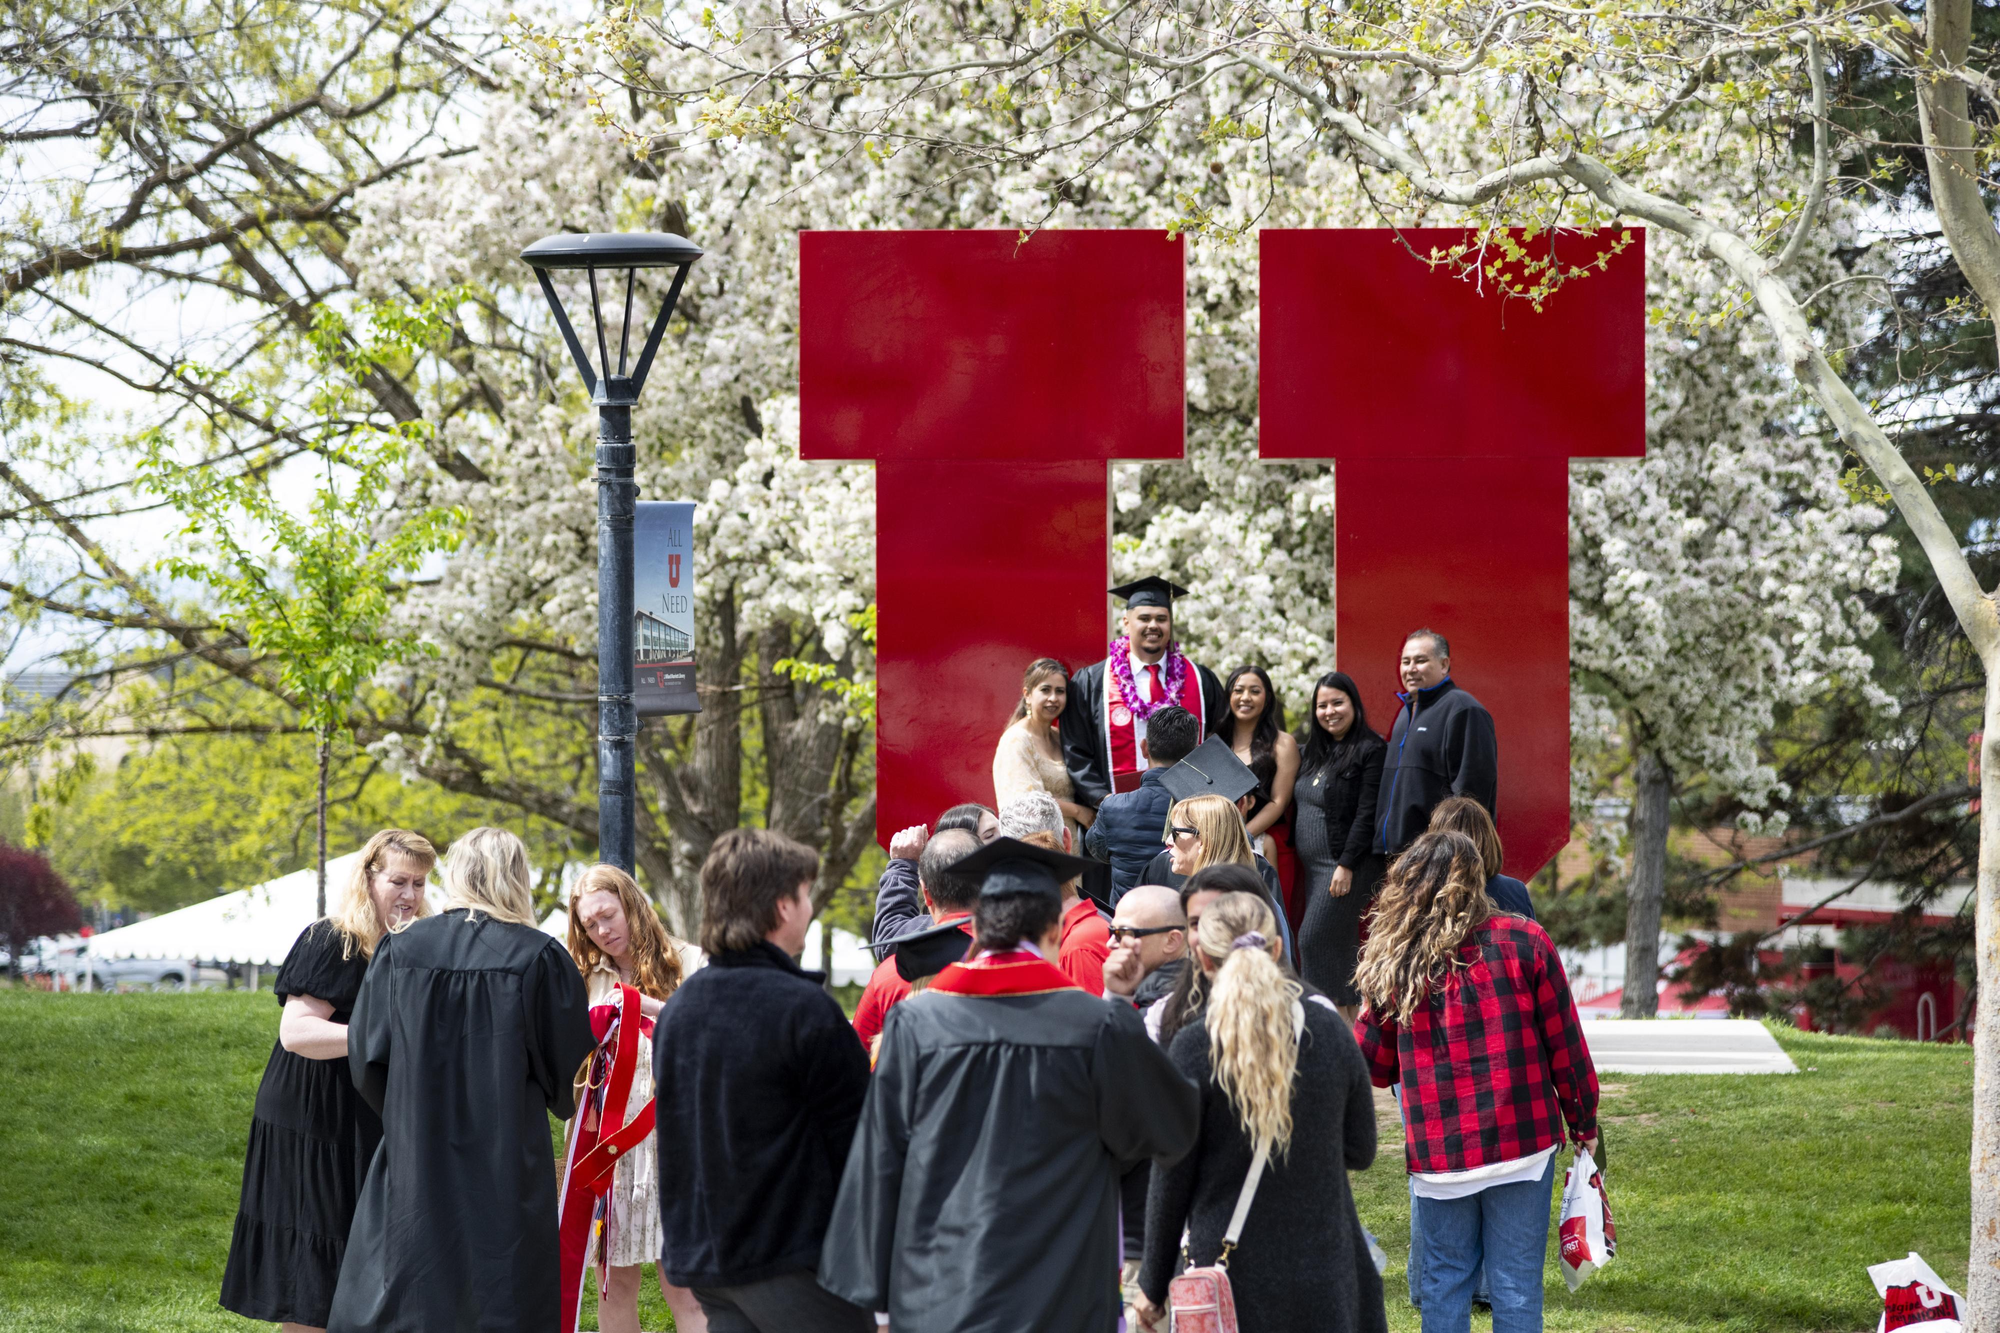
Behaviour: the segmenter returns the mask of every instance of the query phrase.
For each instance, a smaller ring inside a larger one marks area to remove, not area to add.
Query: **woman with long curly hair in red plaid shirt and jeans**
[[[1538,1331],[1564,1127],[1598,1149],[1598,1075],[1556,945],[1494,911],[1470,837],[1426,831],[1390,867],[1354,983],[1368,1073],[1402,1083],[1426,1333],[1466,1333],[1482,1257],[1494,1333]]]

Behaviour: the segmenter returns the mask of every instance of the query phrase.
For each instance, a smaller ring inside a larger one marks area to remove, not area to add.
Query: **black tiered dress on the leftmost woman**
[[[356,949],[342,957],[332,921],[314,921],[278,969],[278,1003],[312,995],[346,1023],[368,973]],[[222,1269],[222,1307],[266,1323],[326,1327],[348,1247],[354,1201],[382,1117],[362,1101],[344,1059],[306,1059],[272,1045],[250,1119],[244,1191]]]

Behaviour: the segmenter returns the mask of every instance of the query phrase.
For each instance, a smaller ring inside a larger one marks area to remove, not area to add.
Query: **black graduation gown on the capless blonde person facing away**
[[[548,1115],[594,1045],[562,941],[464,909],[382,939],[348,1063],[382,1113],[330,1333],[548,1333],[560,1321]]]

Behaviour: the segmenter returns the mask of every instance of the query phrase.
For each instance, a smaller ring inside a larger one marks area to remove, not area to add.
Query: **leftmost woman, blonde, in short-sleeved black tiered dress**
[[[222,1307],[284,1333],[326,1327],[354,1201],[382,1117],[348,1071],[348,1011],[382,935],[424,915],[432,845],[408,829],[368,839],[334,913],[278,969],[278,1043],[256,1091]]]

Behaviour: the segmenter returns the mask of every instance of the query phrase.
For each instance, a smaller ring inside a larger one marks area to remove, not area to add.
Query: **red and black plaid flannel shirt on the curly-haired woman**
[[[1534,921],[1494,915],[1408,1025],[1364,1009],[1354,1025],[1376,1087],[1402,1083],[1410,1171],[1530,1157],[1598,1127],[1598,1071],[1570,977]]]

